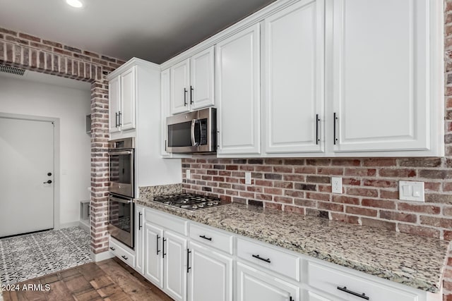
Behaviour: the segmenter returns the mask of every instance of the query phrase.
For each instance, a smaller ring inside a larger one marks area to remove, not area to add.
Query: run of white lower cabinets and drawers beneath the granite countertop
[[[427,293],[162,211],[136,207],[136,212],[136,253],[114,239],[110,250],[177,301],[442,300],[441,292]]]

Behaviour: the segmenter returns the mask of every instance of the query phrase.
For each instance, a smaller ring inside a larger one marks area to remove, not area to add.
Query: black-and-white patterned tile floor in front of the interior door
[[[4,285],[92,261],[90,234],[78,227],[0,239],[0,283]]]

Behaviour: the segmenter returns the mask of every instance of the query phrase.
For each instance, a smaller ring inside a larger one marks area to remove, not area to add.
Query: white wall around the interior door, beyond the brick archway
[[[90,135],[85,133],[85,116],[90,113],[91,97],[88,83],[64,78],[57,82],[0,76],[0,112],[60,119],[60,223],[64,226],[78,221],[79,202],[90,197]]]

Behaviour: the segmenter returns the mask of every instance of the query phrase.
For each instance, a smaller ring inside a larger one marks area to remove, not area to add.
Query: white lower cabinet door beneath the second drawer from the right
[[[299,299],[299,287],[237,262],[237,301]]]

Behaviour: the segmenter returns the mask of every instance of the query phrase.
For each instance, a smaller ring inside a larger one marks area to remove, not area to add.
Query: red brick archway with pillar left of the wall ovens
[[[108,82],[124,61],[0,27],[0,64],[91,82],[91,249],[108,250]]]

